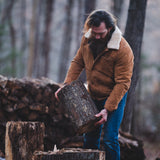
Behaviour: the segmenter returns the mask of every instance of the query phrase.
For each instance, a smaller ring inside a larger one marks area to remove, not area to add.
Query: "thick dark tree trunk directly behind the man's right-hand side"
[[[133,108],[135,106],[135,88],[139,79],[141,45],[143,38],[145,13],[147,0],[130,0],[128,19],[124,37],[130,44],[134,53],[134,69],[131,87],[128,91],[127,103],[125,107],[124,118],[122,121],[122,130],[130,132]]]

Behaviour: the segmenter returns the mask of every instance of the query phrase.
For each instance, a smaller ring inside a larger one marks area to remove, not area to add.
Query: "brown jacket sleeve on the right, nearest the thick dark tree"
[[[104,106],[108,111],[117,109],[119,102],[130,87],[134,64],[133,60],[134,56],[132,50],[129,45],[127,45],[122,49],[122,51],[120,51],[119,56],[115,62],[115,86],[107,98]]]

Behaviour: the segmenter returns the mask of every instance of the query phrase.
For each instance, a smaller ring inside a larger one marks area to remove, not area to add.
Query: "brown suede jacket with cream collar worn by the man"
[[[81,46],[71,62],[64,82],[76,80],[85,68],[91,97],[96,100],[107,98],[104,107],[113,111],[117,109],[130,87],[134,56],[129,44],[116,27],[106,48],[94,60],[88,44],[90,35],[89,30],[82,37]]]

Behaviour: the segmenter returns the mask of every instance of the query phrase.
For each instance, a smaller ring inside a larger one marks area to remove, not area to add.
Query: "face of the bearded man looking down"
[[[110,29],[108,30],[106,28],[106,25],[104,22],[101,22],[99,27],[95,27],[95,26],[91,27],[92,38],[96,40],[103,40],[109,31]]]

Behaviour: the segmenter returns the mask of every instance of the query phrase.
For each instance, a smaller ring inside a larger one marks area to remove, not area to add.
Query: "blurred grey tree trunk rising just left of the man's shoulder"
[[[71,48],[71,40],[72,40],[72,28],[73,28],[73,21],[72,21],[72,9],[73,9],[74,0],[67,0],[67,7],[66,7],[66,22],[65,22],[65,29],[63,35],[63,42],[61,48],[61,55],[60,55],[60,65],[59,65],[59,82],[63,82],[64,78],[67,73],[68,69],[68,60]]]

